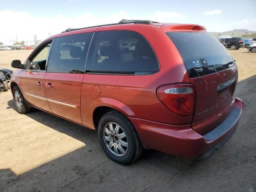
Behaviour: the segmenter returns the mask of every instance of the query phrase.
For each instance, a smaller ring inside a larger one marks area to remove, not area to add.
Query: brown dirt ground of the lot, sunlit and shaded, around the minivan
[[[0,68],[30,52],[0,51]],[[229,52],[239,68],[236,96],[244,112],[234,136],[204,160],[149,150],[132,165],[116,164],[96,131],[40,110],[18,114],[10,90],[1,92],[0,192],[256,192],[256,54]]]

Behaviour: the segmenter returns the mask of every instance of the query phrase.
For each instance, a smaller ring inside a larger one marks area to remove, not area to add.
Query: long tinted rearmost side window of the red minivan
[[[96,32],[92,39],[86,72],[151,74],[159,63],[148,41],[128,30]]]

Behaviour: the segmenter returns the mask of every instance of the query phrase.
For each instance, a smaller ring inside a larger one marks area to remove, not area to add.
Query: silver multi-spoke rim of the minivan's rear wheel
[[[106,147],[116,156],[124,156],[128,150],[128,139],[124,130],[116,123],[104,126],[103,139]]]

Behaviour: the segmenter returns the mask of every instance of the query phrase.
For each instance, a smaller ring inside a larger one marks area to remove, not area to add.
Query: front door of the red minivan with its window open
[[[38,47],[26,61],[26,69],[21,73],[21,87],[26,101],[32,106],[49,111],[46,99],[44,76],[51,41]]]

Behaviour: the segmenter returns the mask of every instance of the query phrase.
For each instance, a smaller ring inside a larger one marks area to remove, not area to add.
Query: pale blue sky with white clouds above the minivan
[[[123,18],[200,24],[209,32],[256,31],[256,0],[0,0],[0,42],[44,40],[67,28]]]

